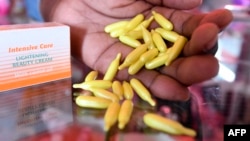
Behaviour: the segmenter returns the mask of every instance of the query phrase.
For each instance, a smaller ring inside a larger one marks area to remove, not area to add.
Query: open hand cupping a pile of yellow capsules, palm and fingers
[[[231,21],[232,14],[223,9],[194,14],[189,10],[200,0],[42,0],[41,10],[46,21],[57,21],[71,27],[72,55],[93,70],[105,73],[117,53],[122,59],[132,50],[104,32],[107,24],[131,19],[139,13],[151,16],[157,11],[174,24],[174,31],[186,36],[181,57],[170,66],[157,70],[142,69],[128,75],[127,69],[117,74],[119,80],[140,79],[156,97],[185,101],[188,87],[208,80],[218,73],[218,60],[210,53],[220,33]],[[156,27],[152,23],[150,28]]]

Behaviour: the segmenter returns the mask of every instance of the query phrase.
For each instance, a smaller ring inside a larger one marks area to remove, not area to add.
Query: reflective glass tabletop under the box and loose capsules
[[[79,93],[79,92],[78,92]],[[201,117],[197,101],[172,102],[157,100],[152,107],[138,97],[129,124],[119,130],[114,125],[103,130],[105,110],[87,109],[75,104],[76,91],[71,78],[0,92],[0,140],[78,141],[112,140],[201,140]],[[179,121],[197,131],[196,138],[171,136],[147,127],[142,116],[155,112]]]

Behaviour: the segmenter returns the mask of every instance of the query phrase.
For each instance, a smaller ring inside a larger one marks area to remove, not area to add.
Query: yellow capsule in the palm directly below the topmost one
[[[176,40],[180,36],[178,33],[166,30],[164,28],[156,28],[155,31],[158,32],[162,38],[172,43],[176,42]]]

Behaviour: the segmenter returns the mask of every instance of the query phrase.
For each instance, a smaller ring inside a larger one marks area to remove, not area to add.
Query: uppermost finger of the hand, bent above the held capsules
[[[226,9],[215,10],[207,14],[191,14],[164,7],[156,7],[153,10],[161,13],[174,24],[174,31],[190,37],[194,30],[202,24],[213,23],[220,31],[223,30],[231,21],[232,13]]]

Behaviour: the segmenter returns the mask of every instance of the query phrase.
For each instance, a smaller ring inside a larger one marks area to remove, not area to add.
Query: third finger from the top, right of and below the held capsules
[[[212,55],[179,58],[160,72],[171,76],[184,85],[192,85],[213,78],[219,70],[218,60]]]

